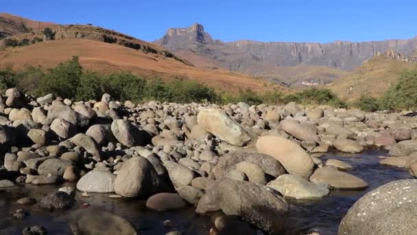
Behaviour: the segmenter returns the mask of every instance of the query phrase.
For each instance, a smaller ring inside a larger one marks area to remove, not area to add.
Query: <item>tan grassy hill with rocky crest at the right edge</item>
[[[416,62],[415,56],[404,56],[389,50],[367,60],[352,73],[331,83],[329,88],[348,100],[361,95],[377,98],[396,82],[402,71],[417,68]]]

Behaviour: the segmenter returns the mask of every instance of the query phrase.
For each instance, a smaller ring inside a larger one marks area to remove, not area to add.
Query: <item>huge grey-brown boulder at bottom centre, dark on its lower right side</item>
[[[241,216],[254,227],[280,234],[285,230],[287,202],[257,184],[233,179],[215,181],[200,199],[195,212],[222,210],[225,214]]]

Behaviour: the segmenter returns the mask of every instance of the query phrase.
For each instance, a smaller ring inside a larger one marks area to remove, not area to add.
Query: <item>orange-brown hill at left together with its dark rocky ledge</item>
[[[22,19],[21,22],[32,21]],[[11,24],[14,25],[14,23],[13,21]],[[273,85],[272,82],[262,78],[254,78],[216,67],[195,67],[160,45],[141,41],[114,30],[93,25],[53,23],[47,25],[53,30],[55,40],[29,43],[32,45],[19,47],[5,47],[0,50],[0,65],[12,66],[16,69],[27,65],[41,65],[46,69],[69,60],[72,56],[80,56],[82,66],[93,71],[123,70],[132,71],[140,76],[160,77],[167,80],[174,77],[194,79],[211,87],[228,91],[246,88],[257,91],[271,89],[289,91],[285,87]],[[14,32],[11,36],[0,40],[0,46],[4,47],[6,40],[27,39],[29,42],[34,42],[34,38],[43,38],[42,27],[38,30],[32,28],[29,32]]]

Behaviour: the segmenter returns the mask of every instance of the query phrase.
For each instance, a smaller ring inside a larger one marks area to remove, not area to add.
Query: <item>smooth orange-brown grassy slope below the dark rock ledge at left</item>
[[[161,54],[145,53],[117,44],[88,39],[62,39],[24,47],[8,47],[0,52],[0,65],[12,66],[16,69],[27,65],[41,65],[48,68],[69,60],[71,56],[80,56],[82,66],[93,71],[126,70],[145,77],[165,79],[183,77],[228,91],[246,88],[255,91],[274,88],[283,92],[289,91],[284,87],[243,74],[230,73],[223,69],[201,69]]]

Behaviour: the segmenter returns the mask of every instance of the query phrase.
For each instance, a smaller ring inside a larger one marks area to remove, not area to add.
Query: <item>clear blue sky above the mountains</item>
[[[169,27],[202,23],[223,41],[331,42],[412,38],[413,0],[21,0],[0,12],[38,21],[93,23],[153,41]]]

